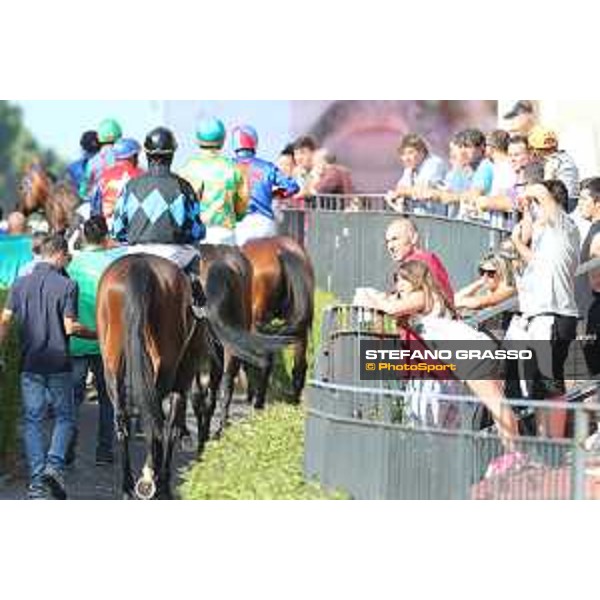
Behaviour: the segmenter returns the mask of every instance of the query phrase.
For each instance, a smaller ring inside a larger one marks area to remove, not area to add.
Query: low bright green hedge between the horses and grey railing
[[[185,500],[345,499],[303,477],[304,409],[275,404],[238,421],[211,441],[189,469],[180,493]]]

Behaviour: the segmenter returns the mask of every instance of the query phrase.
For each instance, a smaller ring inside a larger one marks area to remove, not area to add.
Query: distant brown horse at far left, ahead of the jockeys
[[[79,197],[67,182],[55,183],[39,160],[31,161],[19,183],[19,211],[31,220],[43,215],[47,229],[52,233],[65,233],[75,216]],[[45,228],[37,223],[33,229]],[[33,231],[35,233],[35,231]]]

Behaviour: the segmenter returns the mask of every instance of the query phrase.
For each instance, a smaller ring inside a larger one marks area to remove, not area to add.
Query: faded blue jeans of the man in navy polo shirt
[[[74,430],[73,376],[68,373],[41,375],[21,373],[21,395],[25,423],[25,454],[32,484],[39,484],[46,468],[64,472],[65,454]],[[48,407],[54,428],[48,452],[44,443],[44,420]]]

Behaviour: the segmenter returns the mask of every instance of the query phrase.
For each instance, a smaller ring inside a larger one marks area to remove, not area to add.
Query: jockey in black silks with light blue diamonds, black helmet
[[[117,201],[112,234],[132,246],[130,253],[167,258],[187,272],[195,307],[204,295],[195,278],[198,250],[206,235],[192,186],[171,172],[177,142],[165,127],[152,130],[144,142],[148,172],[132,179]]]

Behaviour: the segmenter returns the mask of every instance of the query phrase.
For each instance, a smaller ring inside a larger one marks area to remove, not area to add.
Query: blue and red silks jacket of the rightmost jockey
[[[281,197],[288,198],[300,191],[294,179],[286,177],[273,163],[257,158],[250,152],[238,152],[235,162],[248,188],[248,214],[259,213],[273,220],[273,192],[277,191]]]

